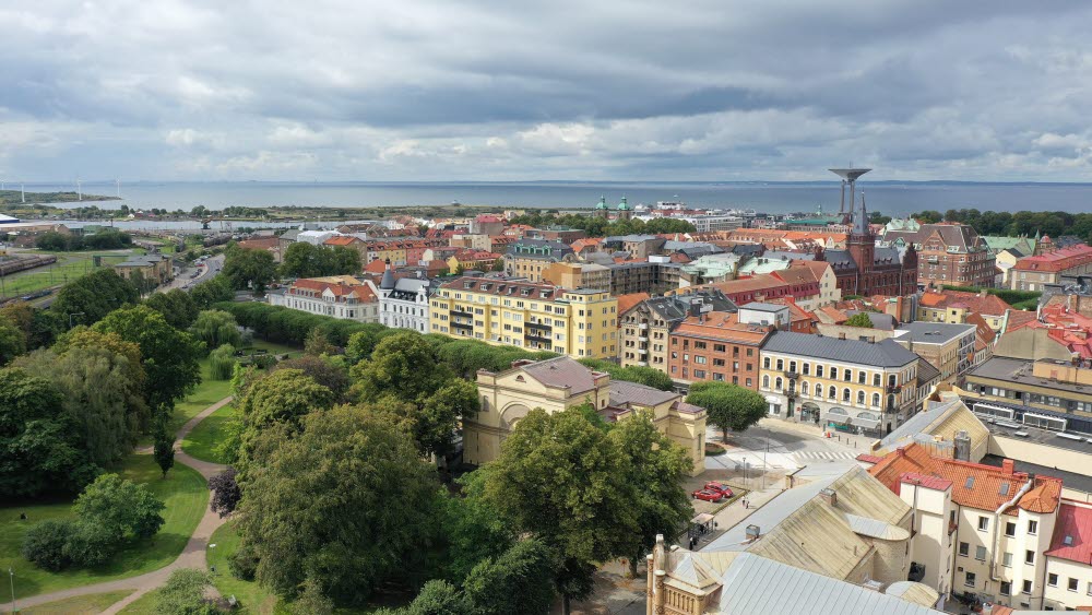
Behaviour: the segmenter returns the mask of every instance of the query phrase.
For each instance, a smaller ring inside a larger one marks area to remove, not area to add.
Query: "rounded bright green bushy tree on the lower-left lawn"
[[[80,523],[99,528],[117,543],[154,536],[165,522],[164,508],[146,485],[117,474],[95,478],[72,505]]]

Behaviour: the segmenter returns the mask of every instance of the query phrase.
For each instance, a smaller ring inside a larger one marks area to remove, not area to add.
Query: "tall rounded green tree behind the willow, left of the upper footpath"
[[[152,409],[174,409],[175,400],[201,381],[201,343],[167,323],[147,306],[112,311],[96,322],[94,331],[117,333],[140,347],[144,366],[145,400]]]

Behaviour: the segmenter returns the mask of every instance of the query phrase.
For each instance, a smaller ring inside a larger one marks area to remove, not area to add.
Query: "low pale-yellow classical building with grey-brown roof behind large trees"
[[[500,454],[515,424],[534,409],[554,414],[591,403],[607,421],[649,413],[656,428],[690,453],[693,475],[705,470],[705,410],[670,391],[612,381],[569,357],[517,362],[500,374],[479,370],[482,410],[463,423],[463,461],[480,465]]]

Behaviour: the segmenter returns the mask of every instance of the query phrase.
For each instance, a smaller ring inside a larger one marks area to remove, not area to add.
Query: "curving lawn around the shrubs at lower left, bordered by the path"
[[[159,466],[150,454],[129,456],[117,472],[123,478],[146,484],[166,505],[166,523],[159,533],[127,546],[103,566],[47,572],[23,559],[20,544],[31,524],[71,518],[71,502],[5,505],[0,508],[0,568],[11,566],[15,570],[16,599],[143,575],[163,568],[182,553],[209,506],[209,487],[201,474],[176,463],[167,477],[161,478]],[[26,512],[28,520],[20,521],[20,512]]]

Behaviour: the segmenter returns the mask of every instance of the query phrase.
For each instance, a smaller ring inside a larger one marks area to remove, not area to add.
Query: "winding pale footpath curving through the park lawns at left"
[[[227,465],[193,459],[182,452],[182,440],[185,440],[186,436],[188,436],[190,431],[197,427],[198,423],[201,423],[206,416],[216,412],[221,407],[224,407],[230,402],[232,398],[225,398],[202,410],[197,416],[190,418],[186,425],[182,425],[182,428],[178,430],[178,436],[175,439],[175,461],[181,462],[197,470],[202,476],[205,477],[206,481],[212,476],[219,474],[224,470],[227,470]],[[141,450],[138,452],[147,454],[151,450]],[[139,575],[136,577],[129,577],[128,579],[118,579],[116,581],[106,581],[103,583],[95,583],[93,586],[83,586],[80,588],[72,588],[50,593],[43,593],[32,598],[25,598],[19,601],[19,607],[27,608],[39,604],[46,604],[47,602],[93,593],[133,590],[133,593],[129,594],[121,601],[116,602],[103,612],[105,615],[118,613],[131,602],[167,582],[167,577],[169,577],[173,571],[179,568],[200,568],[202,570],[207,568],[209,563],[205,559],[205,551],[209,547],[209,539],[217,528],[224,524],[225,521],[226,519],[222,519],[219,515],[213,512],[209,508],[205,508],[204,517],[201,518],[201,521],[198,523],[193,534],[190,535],[190,540],[186,543],[186,548],[182,549],[181,555],[163,568],[145,572],[144,575]]]

